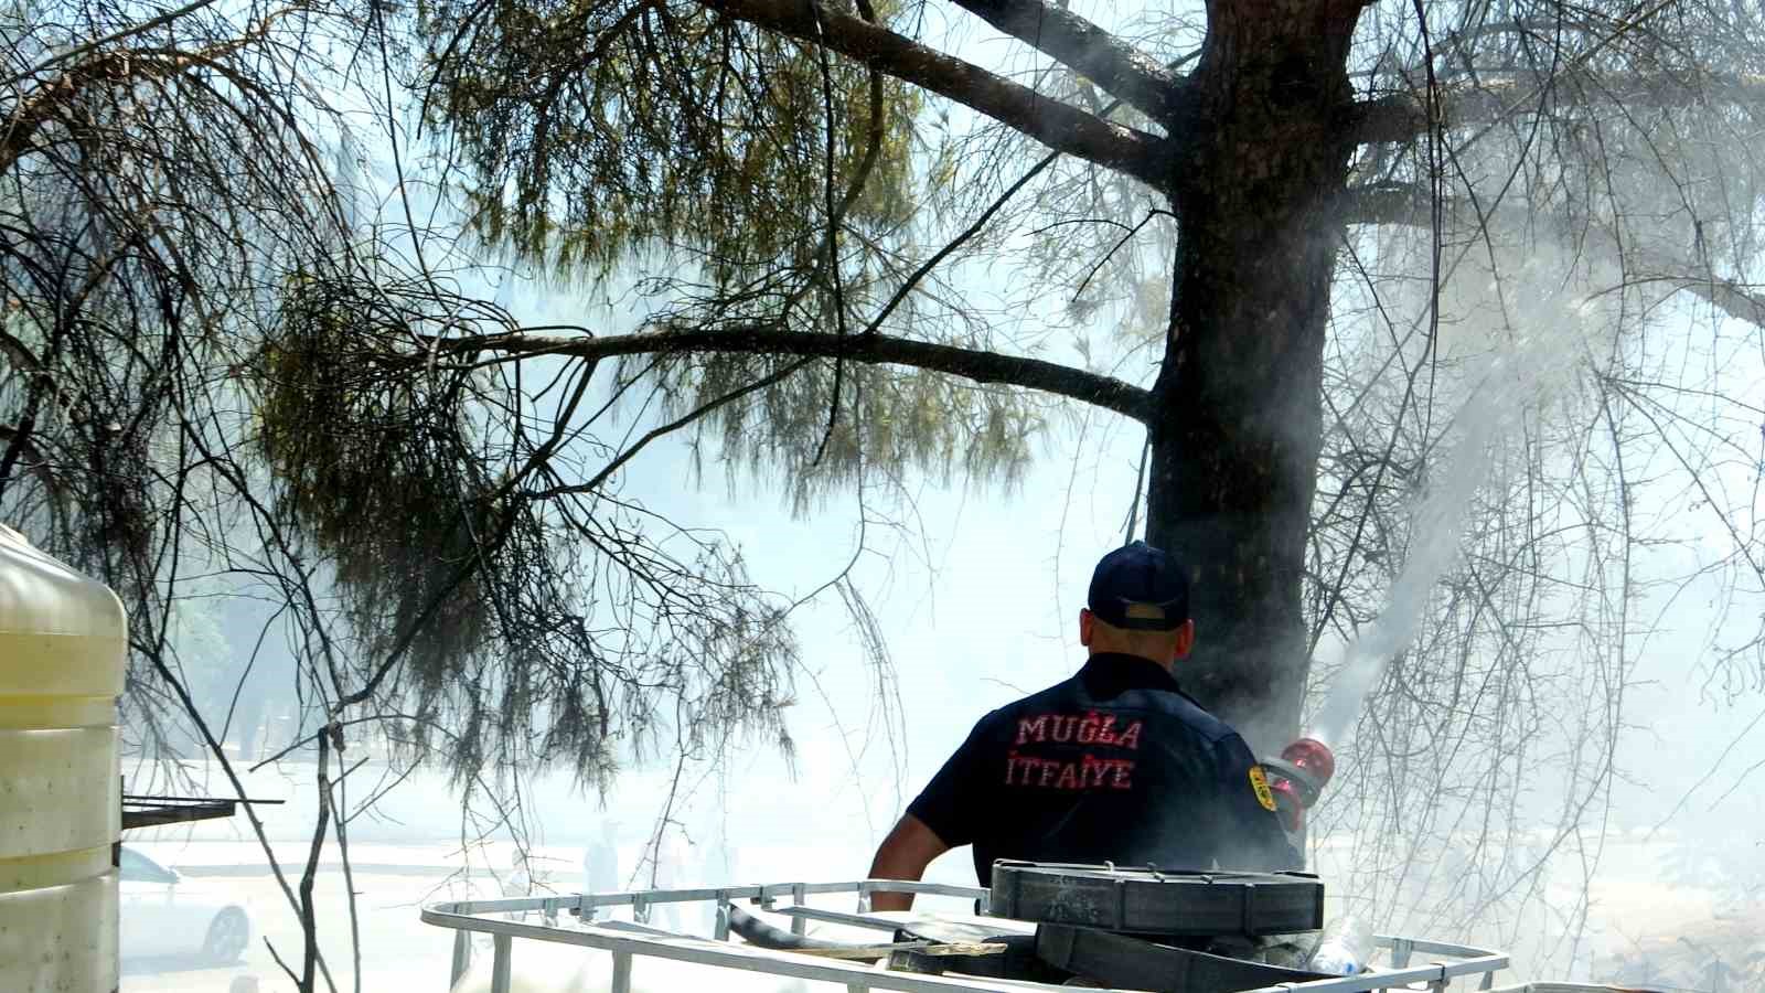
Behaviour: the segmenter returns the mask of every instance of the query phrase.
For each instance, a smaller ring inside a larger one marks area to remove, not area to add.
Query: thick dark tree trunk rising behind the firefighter
[[[1357,14],[1341,0],[1213,0],[1168,182],[1179,247],[1147,537],[1193,576],[1183,686],[1258,754],[1299,733],[1310,668],[1301,576]]]

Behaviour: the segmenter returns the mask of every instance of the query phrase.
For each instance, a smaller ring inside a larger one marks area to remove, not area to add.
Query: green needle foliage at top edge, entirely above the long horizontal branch
[[[478,233],[560,274],[665,246],[727,292],[817,263],[830,182],[837,201],[858,189],[860,228],[913,214],[920,97],[874,94],[849,60],[685,2],[443,0],[418,19],[427,111],[471,175]]]

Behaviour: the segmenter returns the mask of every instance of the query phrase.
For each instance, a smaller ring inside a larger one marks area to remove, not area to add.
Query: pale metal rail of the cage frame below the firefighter
[[[450,970],[452,979],[448,979],[450,988],[455,986],[466,968],[469,968],[471,935],[491,935],[491,993],[508,993],[515,938],[611,952],[612,982],[609,986],[609,993],[630,993],[632,959],[637,956],[835,982],[844,984],[849,993],[868,993],[870,989],[898,989],[904,993],[999,993],[1059,989],[1057,986],[1029,981],[886,972],[838,959],[757,949],[754,945],[731,944],[727,940],[729,906],[738,899],[757,903],[762,910],[789,915],[791,929],[798,935],[807,931],[808,921],[812,919],[856,928],[872,928],[877,931],[893,931],[898,926],[897,921],[865,917],[870,910],[870,894],[875,892],[913,892],[971,899],[978,913],[987,912],[988,899],[988,892],[985,889],[974,887],[918,882],[909,883],[898,880],[851,880],[833,883],[768,883],[448,901],[424,906],[422,921],[424,924],[454,929],[454,963]],[[858,913],[838,913],[833,910],[814,908],[805,903],[810,896],[824,894],[856,894]],[[780,898],[789,898],[791,903],[778,906]],[[676,935],[648,926],[650,908],[655,905],[697,903],[708,899],[717,901],[717,928],[711,938]],[[593,922],[593,912],[604,906],[630,906],[635,922]],[[533,912],[538,912],[547,924],[528,924],[524,921],[503,917],[508,913]],[[565,913],[588,917],[579,928],[561,928],[556,921]],[[1391,952],[1391,966],[1377,974],[1345,975],[1341,979],[1315,979],[1311,982],[1281,982],[1276,986],[1246,989],[1243,993],[1370,993],[1375,989],[1416,989],[1417,986],[1412,984],[1421,984],[1421,988],[1431,993],[1444,993],[1447,984],[1460,977],[1481,977],[1477,989],[1490,989],[1491,993],[1497,993],[1493,989],[1495,974],[1507,968],[1507,954],[1490,949],[1386,935],[1380,935],[1377,944]],[[1458,961],[1428,958],[1426,965],[1410,965],[1416,956],[1442,956],[1444,959]],[[1506,989],[1520,991],[1527,988]]]

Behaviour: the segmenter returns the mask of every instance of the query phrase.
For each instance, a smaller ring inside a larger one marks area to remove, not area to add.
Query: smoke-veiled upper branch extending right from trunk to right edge
[[[1483,78],[1477,83],[1453,83],[1438,94],[1440,115],[1447,127],[1491,124],[1525,111],[1544,88],[1574,92],[1576,102],[1610,102],[1627,108],[1686,108],[1694,104],[1765,104],[1765,76],[1668,72],[1611,76],[1590,71],[1560,71],[1551,78],[1530,74]],[[1354,106],[1348,127],[1361,145],[1403,143],[1428,133],[1428,94],[1410,90]]]

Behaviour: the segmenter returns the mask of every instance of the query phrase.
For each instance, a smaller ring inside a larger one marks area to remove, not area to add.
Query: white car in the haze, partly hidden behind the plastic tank
[[[251,942],[251,915],[237,894],[187,882],[127,845],[118,891],[122,958],[196,956],[228,965]]]

